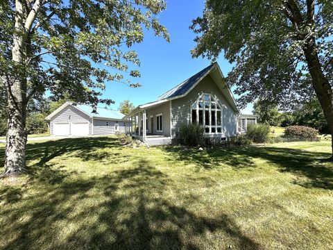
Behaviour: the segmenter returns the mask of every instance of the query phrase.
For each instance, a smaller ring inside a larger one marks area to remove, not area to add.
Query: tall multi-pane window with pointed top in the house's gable
[[[211,94],[201,94],[191,106],[191,122],[205,127],[205,133],[222,133],[222,108]]]

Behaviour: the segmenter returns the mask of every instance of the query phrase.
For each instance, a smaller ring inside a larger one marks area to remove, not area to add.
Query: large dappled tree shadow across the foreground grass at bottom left
[[[4,249],[260,248],[223,211],[209,217],[164,197],[173,180],[143,158],[100,178],[42,186],[0,211]]]

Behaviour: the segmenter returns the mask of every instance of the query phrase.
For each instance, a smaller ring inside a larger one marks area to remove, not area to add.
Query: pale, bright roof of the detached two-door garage
[[[74,106],[72,103],[67,102],[67,103],[63,104],[62,106],[60,106],[59,108],[57,108],[56,110],[54,110],[53,113],[48,115],[45,119],[46,120],[51,119],[52,117],[54,117],[55,115],[60,113],[62,110],[67,108],[68,106],[72,106],[72,107],[80,110],[81,112],[85,113],[85,115],[88,115],[90,118],[101,118],[101,119],[104,118],[104,119],[121,120],[125,116],[117,110],[110,110],[108,108],[100,108],[100,107],[97,107],[97,109],[96,109],[97,113],[92,113],[92,110],[93,110],[92,106],[85,105],[85,104],[79,104],[79,105]]]

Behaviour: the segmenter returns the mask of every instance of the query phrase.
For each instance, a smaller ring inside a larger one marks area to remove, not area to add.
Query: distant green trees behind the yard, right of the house
[[[316,128],[320,133],[330,133],[323,109],[314,98],[287,112],[280,112],[278,106],[258,100],[253,105],[253,113],[259,115],[259,121],[270,126],[301,125]]]

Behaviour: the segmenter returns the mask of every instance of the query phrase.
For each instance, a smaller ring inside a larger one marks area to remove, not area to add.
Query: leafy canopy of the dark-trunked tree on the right
[[[304,51],[313,41],[332,86],[332,0],[207,0],[191,28],[198,33],[194,57],[216,60],[223,51],[235,63],[228,80],[241,106],[258,98],[288,110],[311,99]]]

